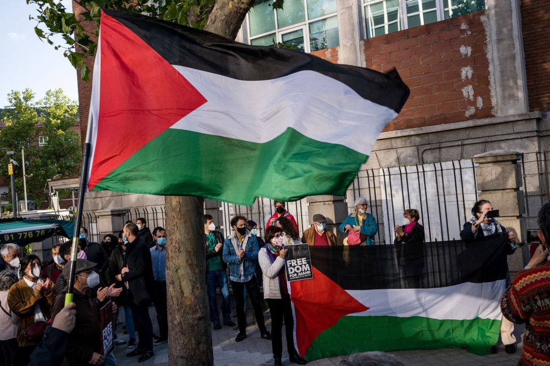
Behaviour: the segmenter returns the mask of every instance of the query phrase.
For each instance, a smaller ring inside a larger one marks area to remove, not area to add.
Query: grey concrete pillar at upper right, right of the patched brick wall
[[[496,116],[529,112],[519,0],[487,0],[487,57]]]

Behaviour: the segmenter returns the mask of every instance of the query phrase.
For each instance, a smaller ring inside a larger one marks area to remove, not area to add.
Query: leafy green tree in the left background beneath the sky
[[[27,198],[36,205],[48,199],[47,179],[76,176],[80,172],[82,153],[80,136],[71,128],[78,124],[78,105],[62,89],[50,90],[35,102],[31,89],[8,94],[10,105],[3,111],[0,130],[0,174],[8,176],[9,157],[14,151],[15,189],[23,199],[21,148],[25,153]],[[41,137],[46,144],[38,146]],[[30,175],[32,174],[32,177]]]

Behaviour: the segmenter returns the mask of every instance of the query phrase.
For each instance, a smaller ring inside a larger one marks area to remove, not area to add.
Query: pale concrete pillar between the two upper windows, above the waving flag
[[[338,63],[361,66],[359,9],[356,0],[336,0],[338,16]]]

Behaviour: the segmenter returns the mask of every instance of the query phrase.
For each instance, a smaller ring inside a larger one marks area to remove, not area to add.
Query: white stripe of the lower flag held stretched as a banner
[[[500,319],[506,280],[461,283],[433,289],[349,290],[369,309],[351,316]]]

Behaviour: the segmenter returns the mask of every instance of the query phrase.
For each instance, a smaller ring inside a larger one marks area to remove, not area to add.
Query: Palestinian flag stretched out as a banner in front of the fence
[[[311,246],[313,279],[288,283],[296,350],[308,361],[365,351],[497,344],[506,235],[466,247]]]

